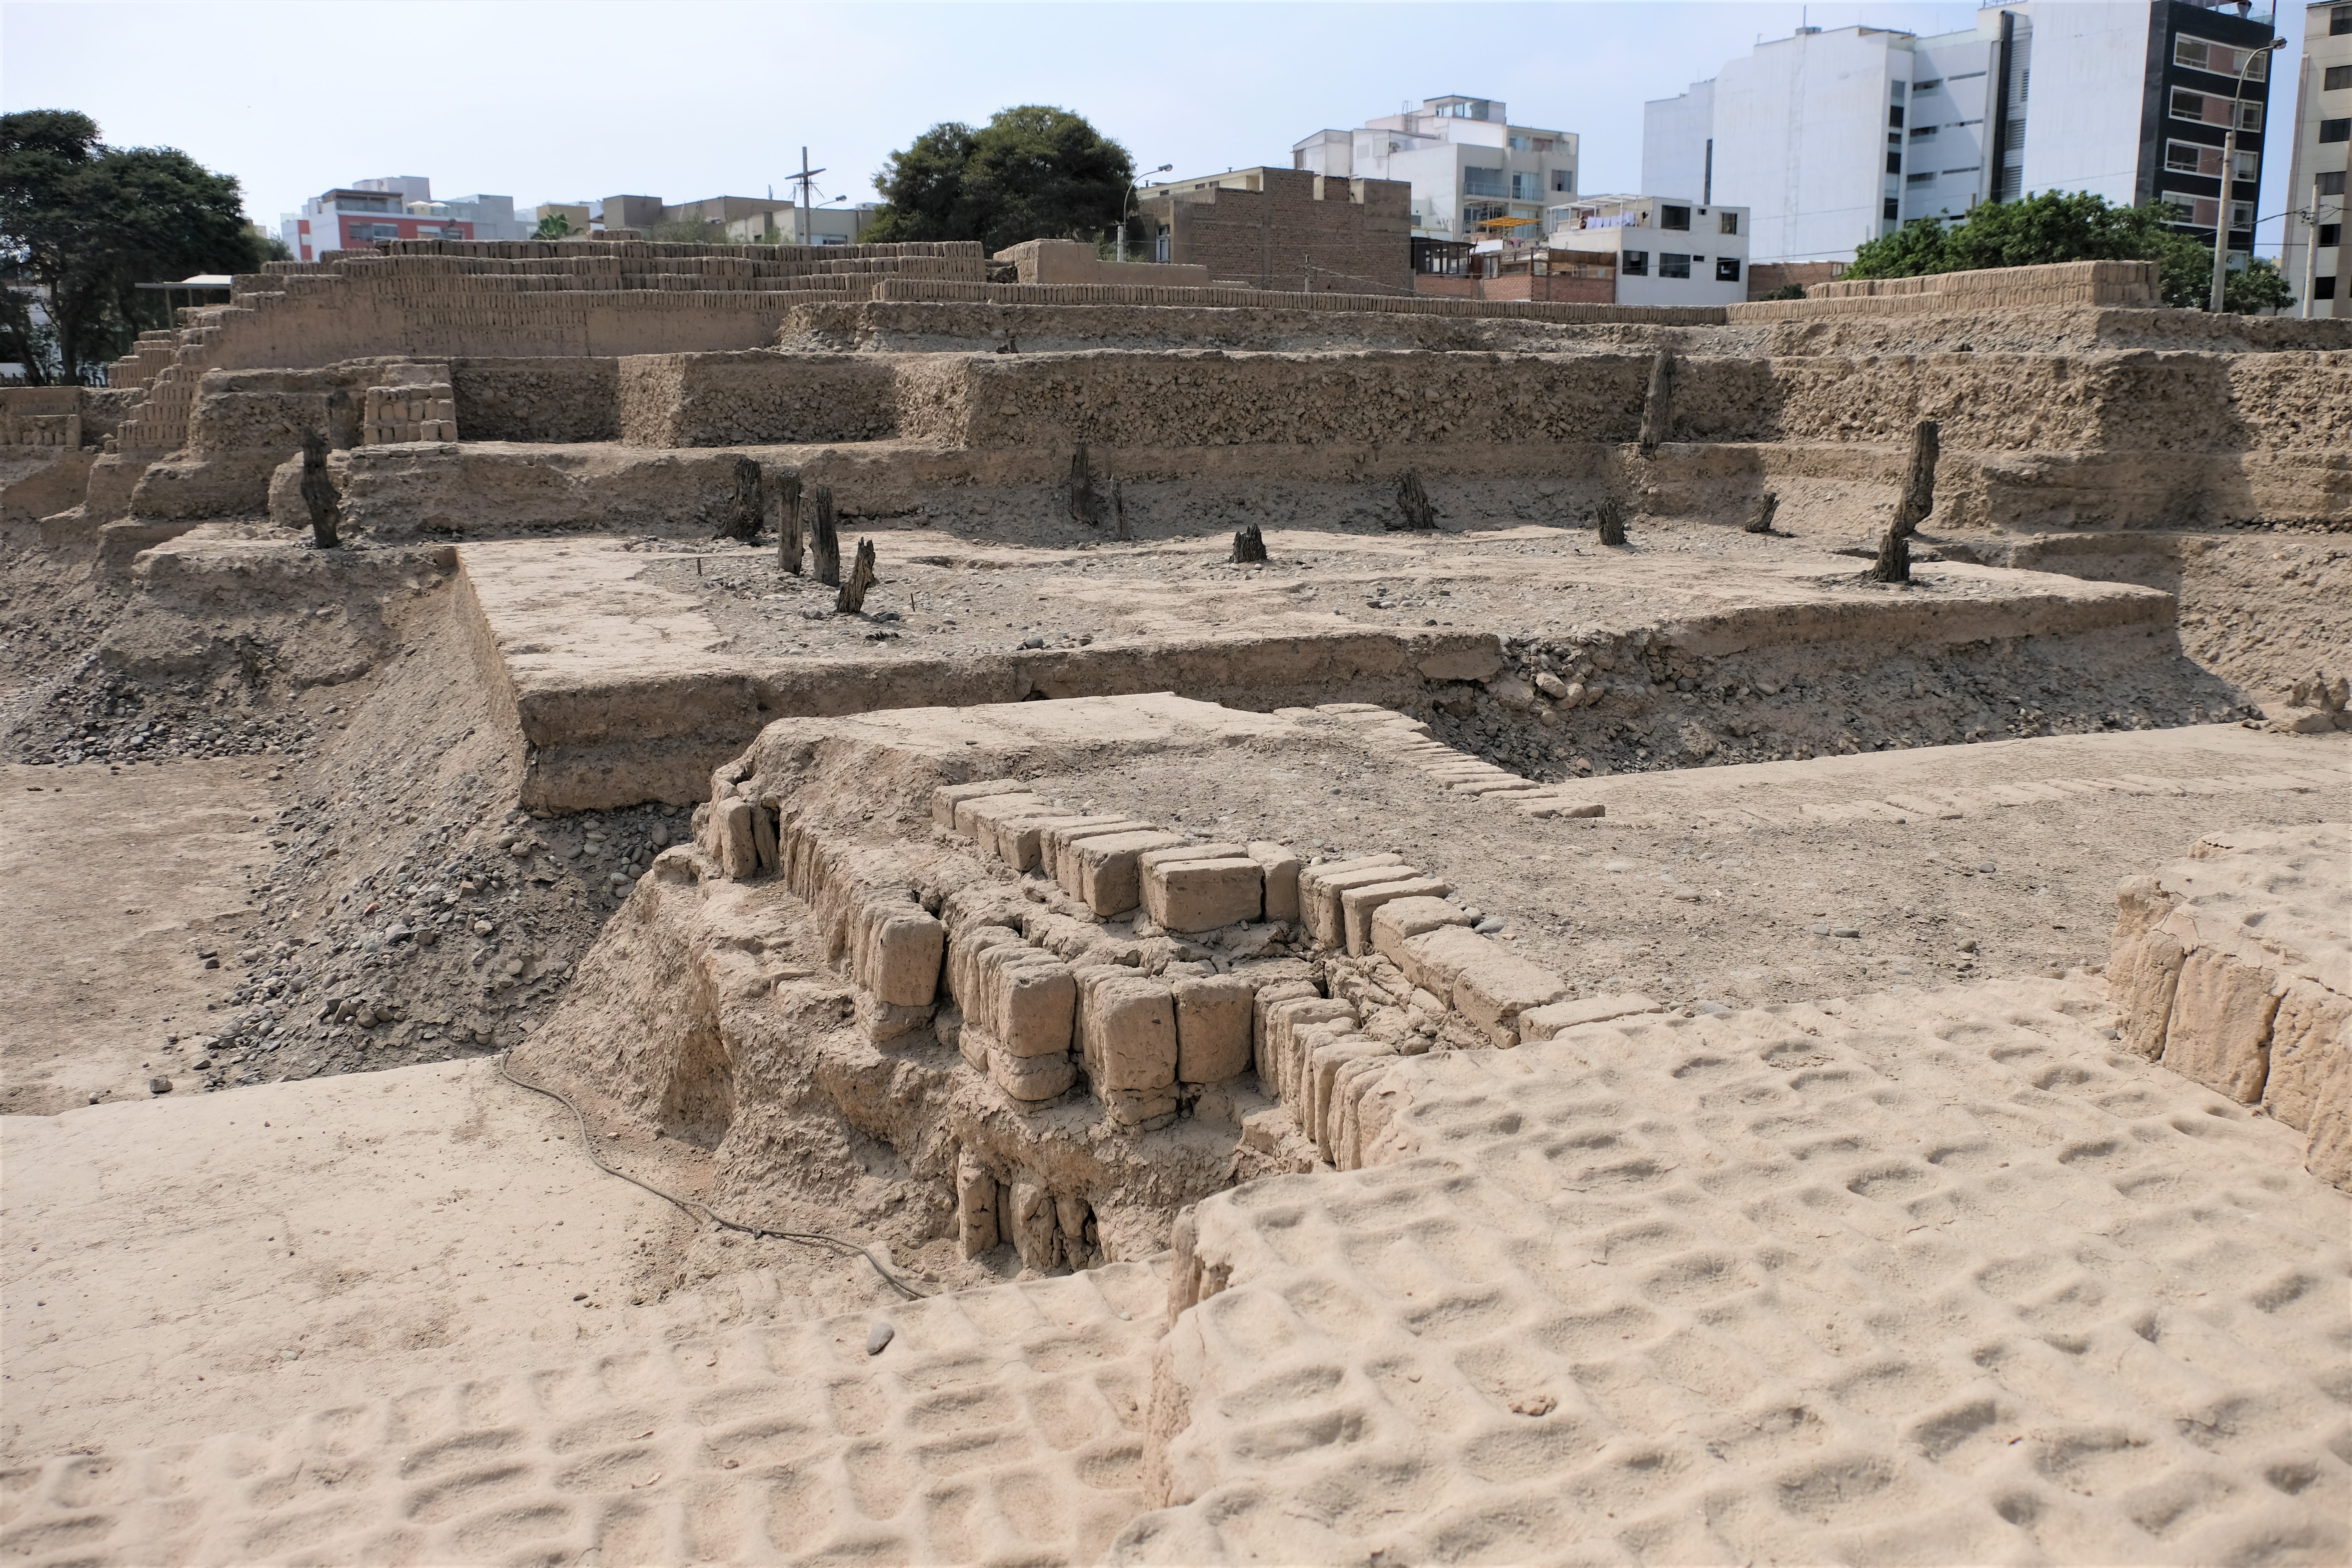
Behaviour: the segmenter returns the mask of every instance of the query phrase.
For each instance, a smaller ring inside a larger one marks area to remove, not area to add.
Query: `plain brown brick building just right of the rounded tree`
[[[1414,188],[1397,179],[1327,179],[1237,169],[1232,183],[1145,190],[1160,261],[1209,277],[1308,294],[1414,292]]]

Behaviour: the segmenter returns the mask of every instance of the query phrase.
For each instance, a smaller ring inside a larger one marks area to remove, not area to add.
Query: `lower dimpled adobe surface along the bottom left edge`
[[[31,1563],[1091,1563],[1143,1507],[1164,1269],[510,1354],[7,1472]],[[877,1324],[891,1335],[868,1354]]]

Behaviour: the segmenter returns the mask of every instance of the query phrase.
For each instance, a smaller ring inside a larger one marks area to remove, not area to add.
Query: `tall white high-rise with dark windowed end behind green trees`
[[[2230,244],[2251,252],[2272,26],[2246,9],[2020,0],[1926,38],[1799,28],[1649,103],[1642,186],[1748,207],[1752,261],[1842,261],[2037,190],[2169,200],[2211,244],[2234,118]]]

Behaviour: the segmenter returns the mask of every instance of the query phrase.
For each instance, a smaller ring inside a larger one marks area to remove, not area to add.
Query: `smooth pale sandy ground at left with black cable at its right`
[[[696,1185],[682,1150],[604,1147]],[[186,1443],[607,1342],[896,1300],[830,1253],[696,1244],[494,1060],[7,1117],[0,1161],[12,1460]]]

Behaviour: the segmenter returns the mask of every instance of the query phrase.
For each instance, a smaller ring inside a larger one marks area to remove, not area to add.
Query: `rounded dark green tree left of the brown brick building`
[[[868,240],[1098,240],[1120,223],[1136,162],[1063,108],[1023,103],[988,125],[934,125],[875,174]]]

